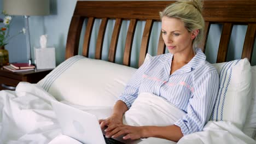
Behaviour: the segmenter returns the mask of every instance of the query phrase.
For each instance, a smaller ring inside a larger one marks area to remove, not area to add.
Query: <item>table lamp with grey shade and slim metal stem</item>
[[[30,28],[28,18],[31,15],[49,15],[49,0],[3,0],[3,10],[9,15],[23,15],[25,17],[27,57],[28,63],[31,64]]]

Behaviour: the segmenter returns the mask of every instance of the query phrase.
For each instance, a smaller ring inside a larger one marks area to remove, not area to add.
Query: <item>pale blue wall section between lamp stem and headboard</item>
[[[48,47],[55,47],[56,64],[65,60],[67,33],[74,7],[74,0],[50,0],[50,15],[31,16],[31,45],[39,47],[42,34],[48,35]]]

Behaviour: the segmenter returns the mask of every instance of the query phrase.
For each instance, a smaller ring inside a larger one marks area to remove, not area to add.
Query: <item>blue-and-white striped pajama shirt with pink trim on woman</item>
[[[139,93],[153,93],[186,113],[174,123],[183,135],[201,131],[216,102],[219,75],[201,49],[197,48],[193,59],[170,75],[172,57],[171,53],[166,53],[143,63],[119,100],[130,109]]]

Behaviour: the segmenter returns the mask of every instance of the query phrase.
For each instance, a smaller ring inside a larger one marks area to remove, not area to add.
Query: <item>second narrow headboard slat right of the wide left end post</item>
[[[98,37],[96,41],[96,51],[95,51],[95,59],[101,59],[101,52],[102,52],[102,45],[103,45],[103,39],[104,34],[107,27],[108,18],[104,17],[101,19],[101,26],[98,30]]]

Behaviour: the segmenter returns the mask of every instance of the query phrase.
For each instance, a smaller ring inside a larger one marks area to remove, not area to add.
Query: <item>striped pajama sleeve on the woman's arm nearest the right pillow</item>
[[[189,99],[187,114],[176,121],[184,135],[202,131],[205,123],[210,119],[216,102],[219,88],[219,75],[212,70],[201,75],[194,85],[194,92]]]

